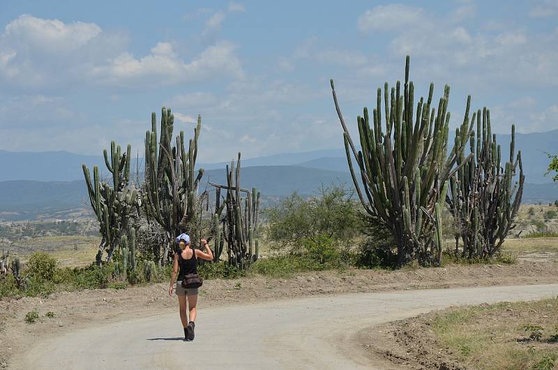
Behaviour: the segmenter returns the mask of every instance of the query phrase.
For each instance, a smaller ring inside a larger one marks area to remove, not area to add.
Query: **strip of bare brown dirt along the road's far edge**
[[[465,286],[513,286],[548,284],[558,279],[556,262],[523,262],[516,265],[450,266],[435,269],[405,269],[395,272],[348,270],[307,273],[291,279],[247,278],[206,281],[200,295],[200,317],[209,307],[255,304],[296,297],[345,295],[347,293],[395,292]],[[31,344],[107,323],[130,318],[156,318],[176,311],[176,298],[167,294],[167,284],[124,290],[82,290],[54,293],[47,298],[8,299],[1,305],[4,367],[15,362]],[[36,310],[38,320],[25,323]],[[46,317],[48,312],[54,317]],[[176,313],[177,315],[177,313]],[[176,317],[179,327],[178,317]],[[180,330],[176,335],[180,334]],[[153,333],[156,335],[156,333]]]

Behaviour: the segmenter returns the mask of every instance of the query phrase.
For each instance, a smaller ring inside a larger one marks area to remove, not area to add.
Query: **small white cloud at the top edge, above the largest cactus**
[[[395,31],[404,30],[409,25],[425,22],[422,8],[402,4],[375,6],[366,10],[357,20],[359,31]]]

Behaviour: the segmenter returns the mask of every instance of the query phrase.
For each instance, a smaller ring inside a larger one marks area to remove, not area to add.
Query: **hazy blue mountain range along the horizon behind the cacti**
[[[504,156],[509,150],[510,140],[511,135],[498,135]],[[526,175],[523,202],[553,202],[558,198],[558,184],[543,176],[549,162],[545,153],[556,153],[557,142],[558,130],[516,135],[516,149],[522,150]],[[84,156],[67,151],[0,151],[0,219],[66,218],[82,214],[88,209],[89,202],[82,163],[89,167],[99,165],[102,170],[105,168],[102,156]],[[206,170],[201,190],[208,181],[224,184],[227,164],[200,164],[199,167]],[[132,167],[135,168],[135,161]],[[293,191],[311,195],[320,186],[353,186],[345,149],[243,159],[242,167],[241,185],[259,188],[266,202]]]

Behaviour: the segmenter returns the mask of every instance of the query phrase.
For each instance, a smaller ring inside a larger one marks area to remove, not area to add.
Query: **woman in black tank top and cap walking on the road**
[[[172,275],[170,278],[169,295],[172,297],[172,291],[175,288],[176,274],[176,295],[179,297],[180,320],[184,328],[184,339],[194,340],[194,327],[196,320],[196,304],[198,288],[184,288],[182,281],[186,275],[197,274],[196,258],[202,260],[213,260],[213,252],[209,248],[206,239],[202,239],[202,246],[205,251],[192,249],[190,247],[190,236],[181,234],[176,238],[179,244],[179,250],[174,253],[174,264],[172,266]],[[190,309],[190,320],[188,321],[188,309]]]

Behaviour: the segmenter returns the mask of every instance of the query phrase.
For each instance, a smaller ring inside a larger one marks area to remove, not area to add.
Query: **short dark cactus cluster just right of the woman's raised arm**
[[[241,154],[236,166],[234,161],[227,165],[227,185],[211,184],[216,188],[216,214],[213,225],[216,229],[215,260],[219,260],[227,243],[228,262],[246,269],[259,258],[259,202],[257,188],[252,191],[241,188]],[[234,175],[233,175],[234,172]],[[227,192],[221,203],[221,189]],[[225,210],[225,214],[223,214]]]

